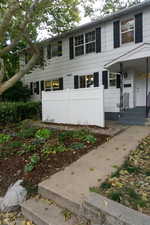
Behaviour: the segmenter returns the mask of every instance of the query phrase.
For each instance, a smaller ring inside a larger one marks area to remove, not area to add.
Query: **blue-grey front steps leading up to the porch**
[[[125,125],[145,125],[147,119],[145,118],[145,107],[136,107],[128,109],[126,112],[120,114],[119,123]]]

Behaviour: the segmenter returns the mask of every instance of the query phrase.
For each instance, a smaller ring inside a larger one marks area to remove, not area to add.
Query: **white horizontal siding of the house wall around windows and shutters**
[[[136,12],[137,14],[138,12]],[[134,16],[134,15],[129,15]],[[125,16],[123,18],[126,18]],[[150,43],[150,8],[143,11],[143,42]],[[118,18],[120,19],[120,18]],[[75,57],[74,59],[69,59],[69,37],[62,40],[63,55],[61,57],[55,57],[46,62],[47,66],[44,70],[35,69],[32,74],[25,76],[25,83],[36,80],[48,80],[53,78],[63,77],[64,88],[74,88],[74,75],[86,75],[94,72],[99,72],[100,74],[100,84],[101,84],[101,74],[104,65],[111,60],[119,57],[120,55],[134,49],[140,44],[129,43],[124,44],[120,48],[114,49],[113,47],[113,21],[106,22],[101,25],[102,34],[102,52],[101,53],[91,53],[83,56]],[[129,68],[130,69],[130,68]],[[133,79],[131,79],[133,84]],[[114,90],[113,90],[114,91]],[[133,90],[129,90],[132,100],[134,99]],[[117,94],[116,94],[117,93]],[[115,94],[112,95],[112,90],[107,89],[105,91],[105,111],[118,112],[119,108],[116,107],[118,102],[119,90],[115,90]],[[109,102],[109,96],[111,99],[111,104]],[[40,98],[40,95],[36,98]],[[116,98],[116,100],[115,100]],[[113,102],[115,104],[113,104]],[[130,106],[133,107],[133,101],[130,101]]]

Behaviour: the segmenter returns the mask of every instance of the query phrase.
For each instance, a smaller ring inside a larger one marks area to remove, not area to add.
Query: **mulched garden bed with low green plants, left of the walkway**
[[[18,179],[28,192],[83,154],[107,141],[108,136],[87,130],[64,131],[33,127],[32,121],[0,125],[0,193]]]

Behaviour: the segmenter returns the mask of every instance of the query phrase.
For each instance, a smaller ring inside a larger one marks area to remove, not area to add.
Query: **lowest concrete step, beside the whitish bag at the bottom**
[[[22,213],[36,225],[86,225],[85,220],[45,199],[30,199],[22,204]]]

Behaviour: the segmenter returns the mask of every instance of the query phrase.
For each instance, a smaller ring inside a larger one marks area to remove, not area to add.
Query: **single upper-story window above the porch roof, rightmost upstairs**
[[[134,18],[126,19],[121,22],[121,42],[122,44],[133,42],[135,33]]]

